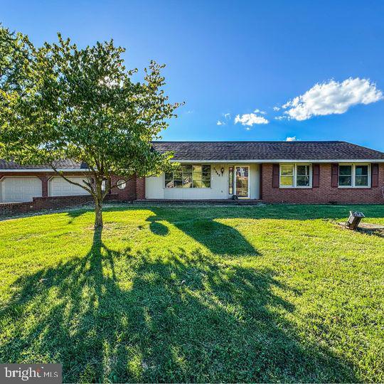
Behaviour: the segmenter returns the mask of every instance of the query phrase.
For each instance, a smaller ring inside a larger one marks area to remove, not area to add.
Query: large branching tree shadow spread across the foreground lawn
[[[63,363],[65,382],[355,382],[302,341],[268,269],[198,250],[90,252],[18,279],[0,311],[0,361]]]

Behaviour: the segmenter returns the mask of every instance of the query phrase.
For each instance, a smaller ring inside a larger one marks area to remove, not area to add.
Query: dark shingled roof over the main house
[[[382,160],[384,153],[348,142],[153,142],[174,160]]]

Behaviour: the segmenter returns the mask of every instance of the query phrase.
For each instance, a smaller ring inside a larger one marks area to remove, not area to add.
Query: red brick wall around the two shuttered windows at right
[[[331,187],[331,164],[320,164],[319,188],[273,188],[272,164],[262,164],[261,178],[266,203],[384,203],[384,164],[379,164],[377,188]]]

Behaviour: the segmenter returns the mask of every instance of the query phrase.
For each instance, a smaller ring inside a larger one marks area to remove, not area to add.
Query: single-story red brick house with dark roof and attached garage
[[[174,151],[173,161],[181,163],[181,169],[158,177],[122,179],[111,199],[237,196],[268,203],[384,203],[384,153],[348,142],[154,142],[153,146],[156,151]],[[86,164],[70,160],[61,161],[58,168],[77,181],[88,173]],[[45,199],[54,206],[63,199],[90,198],[85,195],[48,167],[0,160],[0,203]]]

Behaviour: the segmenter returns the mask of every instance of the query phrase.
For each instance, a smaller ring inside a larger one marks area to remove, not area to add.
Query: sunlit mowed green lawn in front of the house
[[[0,362],[65,382],[383,382],[384,206],[119,206],[0,222]]]

